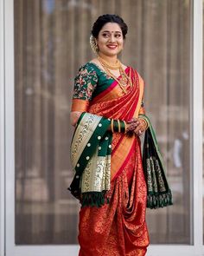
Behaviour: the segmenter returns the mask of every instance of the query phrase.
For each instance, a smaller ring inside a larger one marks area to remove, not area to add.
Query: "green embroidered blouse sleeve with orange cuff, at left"
[[[92,100],[92,93],[97,86],[98,75],[88,66],[82,66],[74,79],[72,111],[84,112]]]

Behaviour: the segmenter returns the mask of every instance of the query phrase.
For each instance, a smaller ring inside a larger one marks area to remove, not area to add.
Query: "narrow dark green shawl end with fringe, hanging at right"
[[[143,172],[147,185],[147,207],[156,209],[172,205],[172,194],[169,188],[163,158],[158,148],[155,131],[146,115],[149,128],[145,131],[143,142]]]

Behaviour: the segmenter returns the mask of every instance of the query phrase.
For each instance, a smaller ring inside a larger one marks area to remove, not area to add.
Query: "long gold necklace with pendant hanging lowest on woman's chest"
[[[119,69],[119,73],[121,76],[121,78],[118,79],[118,77],[116,75],[113,75],[112,72],[110,71],[112,66],[108,62],[105,62],[104,59],[102,59],[100,56],[98,57],[98,60],[99,60],[100,64],[102,65],[102,67],[105,69],[105,72],[108,75],[110,75],[115,81],[118,82],[119,87],[123,90],[124,94],[126,94],[127,93],[126,86],[128,84],[130,84],[132,86],[132,82],[131,82],[131,78],[125,73],[121,62],[119,62],[117,60],[118,69]],[[111,66],[111,68],[110,68],[110,66]]]

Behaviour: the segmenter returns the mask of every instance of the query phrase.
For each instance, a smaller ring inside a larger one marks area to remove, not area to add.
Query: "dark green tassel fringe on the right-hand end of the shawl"
[[[147,207],[156,209],[160,207],[167,207],[173,205],[171,191],[166,194],[148,194]]]

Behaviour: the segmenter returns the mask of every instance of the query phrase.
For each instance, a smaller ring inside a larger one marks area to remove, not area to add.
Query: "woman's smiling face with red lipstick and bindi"
[[[96,41],[99,54],[105,56],[117,56],[124,47],[124,38],[118,23],[105,23]]]

